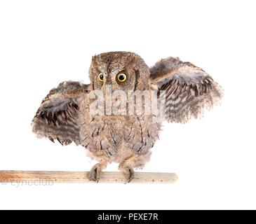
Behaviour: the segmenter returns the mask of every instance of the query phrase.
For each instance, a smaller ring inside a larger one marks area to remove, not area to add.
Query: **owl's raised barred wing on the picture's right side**
[[[222,87],[208,73],[178,58],[162,59],[150,72],[149,87],[165,90],[168,122],[187,123],[219,104],[222,98]]]

